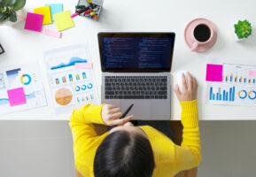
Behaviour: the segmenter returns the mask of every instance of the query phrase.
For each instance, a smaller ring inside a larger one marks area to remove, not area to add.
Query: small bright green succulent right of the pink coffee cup
[[[246,19],[244,21],[239,20],[234,27],[238,39],[247,38],[249,35],[252,35],[251,23],[249,23]]]

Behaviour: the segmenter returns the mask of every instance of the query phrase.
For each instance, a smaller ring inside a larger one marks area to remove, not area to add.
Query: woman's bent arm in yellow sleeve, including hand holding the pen
[[[70,127],[74,141],[74,158],[76,165],[87,165],[93,162],[93,154],[105,135],[98,136],[93,123],[105,124],[107,126],[126,123],[132,116],[119,119],[122,113],[115,105],[87,104],[73,111],[70,117]]]

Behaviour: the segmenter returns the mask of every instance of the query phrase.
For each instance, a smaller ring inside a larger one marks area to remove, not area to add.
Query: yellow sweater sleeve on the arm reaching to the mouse
[[[196,167],[201,160],[197,100],[181,102],[181,106],[183,135],[182,145],[175,147],[177,171]]]

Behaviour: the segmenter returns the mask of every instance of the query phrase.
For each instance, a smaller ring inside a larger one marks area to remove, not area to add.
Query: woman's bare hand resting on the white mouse
[[[182,93],[179,86],[175,86],[175,94],[180,102],[192,101],[197,99],[198,95],[198,81],[193,78],[190,73],[187,73],[188,81],[186,83],[185,75],[182,73]]]

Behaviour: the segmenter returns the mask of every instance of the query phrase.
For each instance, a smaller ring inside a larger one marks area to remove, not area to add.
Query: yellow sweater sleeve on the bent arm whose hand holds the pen
[[[91,150],[97,149],[100,142],[93,123],[105,124],[101,118],[101,110],[104,104],[87,104],[73,111],[69,125],[71,127],[74,141],[75,165],[88,165],[85,159],[91,156]]]

